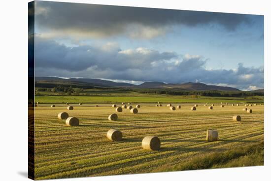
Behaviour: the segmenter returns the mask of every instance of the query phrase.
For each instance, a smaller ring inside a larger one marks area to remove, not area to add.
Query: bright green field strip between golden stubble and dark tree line
[[[159,94],[115,94],[90,96],[36,95],[35,102],[39,103],[264,103],[263,96],[248,97],[207,97],[172,96]]]

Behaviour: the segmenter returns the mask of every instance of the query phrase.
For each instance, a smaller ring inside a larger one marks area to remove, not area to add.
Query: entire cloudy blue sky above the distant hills
[[[35,76],[264,87],[264,16],[35,1]]]

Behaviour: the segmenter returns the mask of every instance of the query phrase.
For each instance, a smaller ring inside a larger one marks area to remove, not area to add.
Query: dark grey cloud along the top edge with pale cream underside
[[[250,15],[245,14],[67,2],[36,1],[35,8],[35,23],[39,31],[47,36],[60,36],[62,33],[77,38],[120,34],[152,38],[175,24],[197,26],[216,23],[234,31],[241,23],[250,22]]]

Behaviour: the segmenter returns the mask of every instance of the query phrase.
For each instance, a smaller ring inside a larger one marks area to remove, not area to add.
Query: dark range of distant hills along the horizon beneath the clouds
[[[131,83],[114,82],[96,78],[59,78],[59,77],[35,77],[37,85],[43,84],[62,84],[79,85],[88,87],[130,87],[130,88],[150,88],[150,89],[182,89],[182,90],[217,90],[217,91],[239,91],[233,87],[224,87],[216,85],[206,85],[204,83],[164,83],[164,82],[144,82],[140,85]]]

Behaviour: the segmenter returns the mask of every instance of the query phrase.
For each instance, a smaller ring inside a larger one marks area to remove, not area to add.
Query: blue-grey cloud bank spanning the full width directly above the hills
[[[237,70],[207,70],[198,55],[178,56],[146,48],[122,50],[114,43],[104,46],[67,47],[35,38],[36,76],[95,77],[168,83],[204,82],[239,89],[264,87],[264,69],[238,64]]]

